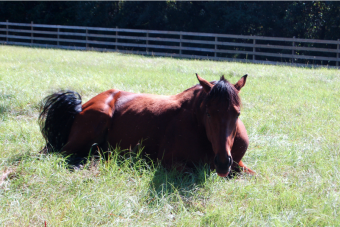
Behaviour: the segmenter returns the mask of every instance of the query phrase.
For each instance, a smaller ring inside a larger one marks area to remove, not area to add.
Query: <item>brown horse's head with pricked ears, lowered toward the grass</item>
[[[241,113],[239,91],[245,85],[247,75],[234,85],[224,76],[214,84],[198,74],[196,76],[204,94],[200,115],[215,153],[216,172],[219,176],[225,177],[229,174],[233,163],[231,148],[236,134],[236,122]]]

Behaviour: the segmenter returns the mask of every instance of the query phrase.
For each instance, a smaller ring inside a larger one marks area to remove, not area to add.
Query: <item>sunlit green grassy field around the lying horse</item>
[[[73,169],[38,153],[38,104],[51,91],[170,95],[197,84],[196,72],[249,75],[240,117],[256,177],[119,155]],[[340,226],[339,88],[335,69],[0,46],[0,225]]]

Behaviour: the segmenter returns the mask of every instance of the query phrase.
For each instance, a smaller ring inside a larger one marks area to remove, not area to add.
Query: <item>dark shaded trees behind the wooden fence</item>
[[[0,0],[0,21],[340,39],[340,0]]]

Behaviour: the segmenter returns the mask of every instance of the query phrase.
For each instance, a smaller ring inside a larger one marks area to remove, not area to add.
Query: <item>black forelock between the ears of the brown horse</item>
[[[219,100],[222,102],[227,102],[228,106],[240,106],[241,99],[238,92],[223,76],[219,81],[213,81],[214,85],[207,95],[207,100]]]

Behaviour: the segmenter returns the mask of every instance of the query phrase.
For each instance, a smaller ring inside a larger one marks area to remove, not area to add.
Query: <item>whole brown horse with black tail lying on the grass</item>
[[[166,167],[208,163],[221,177],[239,167],[253,174],[241,161],[249,142],[238,119],[247,75],[234,85],[196,76],[198,85],[173,96],[111,89],[82,106],[76,92],[47,96],[39,117],[45,149],[86,156],[95,143],[129,149],[143,140],[143,153]]]

